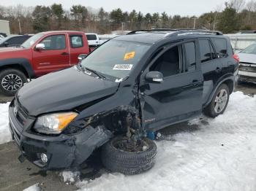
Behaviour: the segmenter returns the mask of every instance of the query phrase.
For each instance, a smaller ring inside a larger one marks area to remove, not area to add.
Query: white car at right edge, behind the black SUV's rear
[[[256,83],[256,43],[238,53],[241,81]]]

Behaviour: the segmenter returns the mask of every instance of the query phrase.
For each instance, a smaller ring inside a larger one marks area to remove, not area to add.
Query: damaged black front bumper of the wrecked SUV
[[[76,135],[42,136],[31,133],[35,119],[28,118],[22,125],[10,104],[9,120],[12,139],[18,144],[22,155],[34,165],[44,170],[57,170],[77,167],[83,163],[97,147],[105,144],[112,134],[102,126],[86,127]],[[43,163],[41,154],[45,153],[48,162]]]

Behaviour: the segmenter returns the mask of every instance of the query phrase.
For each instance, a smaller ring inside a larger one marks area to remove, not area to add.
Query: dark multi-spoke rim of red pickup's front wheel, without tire
[[[10,92],[18,91],[22,85],[22,79],[16,74],[8,74],[1,79],[1,86]]]

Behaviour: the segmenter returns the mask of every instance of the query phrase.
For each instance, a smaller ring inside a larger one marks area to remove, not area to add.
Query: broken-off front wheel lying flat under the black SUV
[[[157,145],[143,138],[135,145],[126,137],[117,136],[102,147],[102,163],[110,171],[122,174],[140,174],[155,163]]]

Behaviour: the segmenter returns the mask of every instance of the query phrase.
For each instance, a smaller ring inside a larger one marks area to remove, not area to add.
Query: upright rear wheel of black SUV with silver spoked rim
[[[220,94],[223,93],[225,97],[220,98]],[[223,114],[227,108],[228,101],[230,99],[230,90],[227,85],[222,84],[218,87],[214,97],[211,100],[211,103],[204,109],[204,114],[208,117],[217,117],[219,114]],[[217,104],[219,104],[219,109]]]

